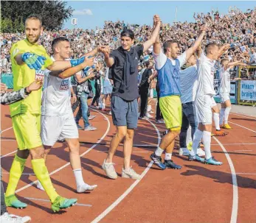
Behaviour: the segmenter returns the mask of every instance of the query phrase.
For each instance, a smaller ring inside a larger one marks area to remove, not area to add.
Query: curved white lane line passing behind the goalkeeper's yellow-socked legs
[[[97,110],[95,110],[97,111]],[[97,111],[97,113],[100,113],[99,111]],[[109,130],[110,130],[110,122],[109,122],[109,119],[103,114],[103,113],[100,113],[101,115],[103,115],[104,118],[106,118],[105,120],[108,122],[108,128],[107,130],[105,130],[105,133],[104,135],[97,141],[96,144],[94,144],[93,146],[90,147],[90,149],[87,149],[86,152],[83,152],[80,157],[83,157],[83,155],[86,155],[86,153],[90,152],[91,149],[94,149],[95,146],[97,146],[97,144],[100,144],[101,141],[103,141],[103,138],[105,138],[105,136],[108,134]],[[64,169],[66,166],[69,166],[70,162],[69,163],[66,163],[65,165],[63,166],[60,166],[60,168],[56,169],[55,171],[52,171],[49,175],[51,176],[52,174],[55,174],[57,173],[58,171],[60,171],[61,169]],[[28,184],[28,185],[25,185],[24,187],[22,188],[19,188],[18,190],[15,191],[15,193],[18,193],[20,191],[23,191],[24,189],[26,188],[29,188],[31,187],[32,185],[34,185],[35,183],[37,183],[38,180],[35,180],[33,181],[32,183]]]

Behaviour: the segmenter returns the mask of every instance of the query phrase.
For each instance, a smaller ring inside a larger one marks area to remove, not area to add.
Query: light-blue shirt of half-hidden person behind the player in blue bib
[[[181,103],[194,102],[198,87],[197,66],[190,66],[180,71],[181,77]]]

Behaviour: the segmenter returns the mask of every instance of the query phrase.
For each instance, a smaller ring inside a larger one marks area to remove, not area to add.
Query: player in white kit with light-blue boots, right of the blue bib
[[[196,130],[193,138],[193,149],[190,152],[188,160],[199,161],[212,165],[221,165],[222,163],[215,160],[212,157],[210,144],[211,144],[211,132],[212,132],[212,100],[215,95],[214,90],[214,65],[215,60],[218,60],[227,49],[229,44],[226,44],[219,49],[215,43],[210,43],[206,46],[206,53],[201,54],[198,59],[198,89],[196,92],[196,115],[198,118],[198,129]],[[196,155],[198,144],[203,139],[205,159]]]

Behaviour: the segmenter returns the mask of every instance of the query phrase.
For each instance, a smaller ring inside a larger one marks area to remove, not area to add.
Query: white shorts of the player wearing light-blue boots
[[[212,124],[212,99],[213,97],[209,95],[196,98],[195,108],[198,123]]]

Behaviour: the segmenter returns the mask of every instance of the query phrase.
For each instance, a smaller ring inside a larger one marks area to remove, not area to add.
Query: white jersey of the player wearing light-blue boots
[[[214,90],[214,68],[215,62],[210,60],[204,53],[197,61],[198,68],[198,88],[196,92],[196,98],[202,97],[204,95],[215,95]]]

